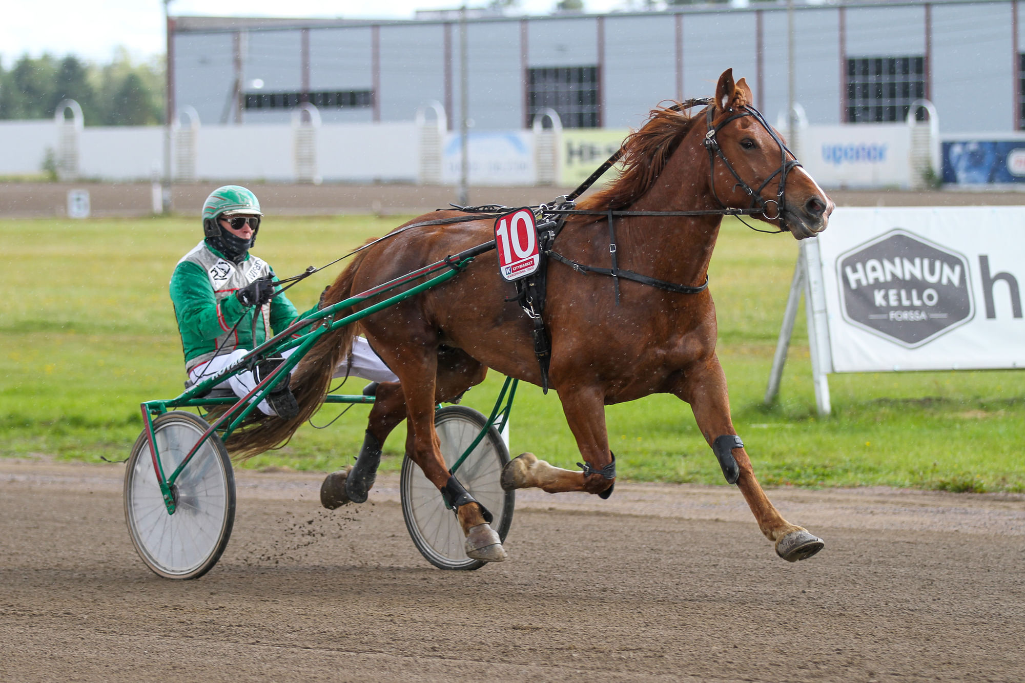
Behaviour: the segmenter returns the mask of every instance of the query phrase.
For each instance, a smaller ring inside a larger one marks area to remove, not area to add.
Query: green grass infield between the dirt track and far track
[[[404,218],[268,218],[254,253],[279,276],[344,253]],[[172,398],[184,379],[167,284],[201,237],[198,218],[2,220],[0,455],[123,459],[138,436],[141,401]],[[712,258],[719,354],[733,419],[768,486],[920,487],[1023,491],[1025,375],[949,371],[830,375],[833,414],[815,413],[804,315],[798,316],[779,402],[764,407],[797,243],[728,218]],[[289,291],[301,311],[342,265]],[[611,286],[611,284],[610,284]],[[491,373],[463,402],[484,412],[502,377]],[[342,393],[359,393],[351,379]],[[343,407],[325,406],[323,426]],[[367,406],[329,429],[304,426],[285,447],[242,467],[329,471],[353,461]],[[619,476],[632,481],[723,484],[690,407],[652,396],[606,410]],[[580,459],[559,399],[521,387],[511,452],[575,469]],[[400,428],[383,467],[397,470]]]

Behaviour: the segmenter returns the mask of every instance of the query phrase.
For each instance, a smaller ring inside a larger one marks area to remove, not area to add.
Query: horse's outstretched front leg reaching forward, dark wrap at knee
[[[719,358],[713,354],[687,368],[673,393],[691,404],[698,429],[712,447],[727,481],[740,488],[762,533],[775,541],[776,553],[784,560],[796,562],[822,550],[821,538],[783,519],[754,478],[751,460],[730,418],[726,375]]]

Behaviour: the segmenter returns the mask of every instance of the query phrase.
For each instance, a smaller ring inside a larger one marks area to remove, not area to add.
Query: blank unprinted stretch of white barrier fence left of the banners
[[[48,164],[61,179],[149,180],[163,168],[159,126],[0,122],[0,175],[32,175]],[[415,183],[415,124],[355,123],[173,126],[171,176],[178,182]]]

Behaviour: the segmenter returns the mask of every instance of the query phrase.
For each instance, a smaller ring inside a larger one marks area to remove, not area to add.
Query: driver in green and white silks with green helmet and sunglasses
[[[281,332],[300,317],[284,293],[275,294],[273,283],[278,278],[274,269],[249,253],[262,215],[259,201],[249,190],[237,185],[217,188],[203,204],[203,241],[174,269],[171,302],[186,357],[187,387],[223,370],[266,340],[272,330]],[[239,372],[215,389],[231,389],[242,398],[292,351],[261,361],[253,370]],[[375,383],[399,381],[359,336],[334,376],[350,374]],[[258,407],[266,415],[285,419],[298,413],[287,379],[280,381]]]

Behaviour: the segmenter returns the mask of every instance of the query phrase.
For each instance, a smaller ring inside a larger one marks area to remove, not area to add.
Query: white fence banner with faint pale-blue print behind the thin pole
[[[467,140],[469,184],[534,185],[534,135],[521,130],[471,130]],[[462,164],[459,133],[449,133],[442,151],[442,183],[459,182]]]

